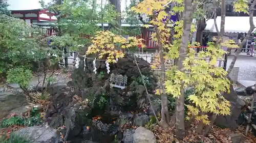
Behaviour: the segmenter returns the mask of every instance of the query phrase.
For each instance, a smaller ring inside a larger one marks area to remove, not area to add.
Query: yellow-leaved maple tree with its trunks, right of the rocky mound
[[[224,1],[224,0],[223,0]],[[229,115],[230,103],[223,96],[223,92],[229,92],[230,81],[227,78],[227,72],[222,67],[217,67],[217,59],[223,58],[226,53],[221,46],[233,47],[234,41],[222,41],[222,36],[215,39],[218,44],[208,43],[207,51],[200,51],[198,54],[189,46],[189,37],[195,32],[195,25],[191,24],[193,16],[191,12],[196,8],[196,2],[191,1],[172,1],[176,3],[172,11],[164,11],[165,4],[169,1],[144,0],[132,9],[139,14],[146,14],[152,17],[150,24],[154,25],[155,33],[152,34],[159,49],[159,63],[161,67],[161,121],[162,127],[168,127],[169,113],[167,107],[166,93],[176,98],[176,135],[184,137],[184,108],[187,111],[187,120],[193,119],[199,122],[198,133],[203,133],[203,126],[210,125],[214,121],[210,120],[208,113],[214,115]],[[222,6],[224,2],[222,2]],[[238,4],[241,5],[241,4]],[[241,7],[239,7],[241,8]],[[244,7],[243,7],[244,8]],[[167,17],[174,13],[183,13],[184,17],[176,22],[174,27],[174,42],[170,43],[167,39],[170,36],[170,24],[174,23]],[[224,13],[224,12],[223,12]],[[225,16],[225,15],[224,15]],[[225,17],[224,17],[225,18]],[[222,18],[223,19],[223,18]],[[223,22],[222,22],[223,23]],[[144,25],[148,27],[148,25]],[[221,31],[224,31],[222,24]],[[168,49],[168,52],[164,52]],[[205,59],[209,59],[208,62]],[[165,59],[177,60],[172,69],[165,72]],[[156,65],[155,65],[156,66]],[[195,87],[195,93],[188,96],[190,104],[184,106],[184,88]]]

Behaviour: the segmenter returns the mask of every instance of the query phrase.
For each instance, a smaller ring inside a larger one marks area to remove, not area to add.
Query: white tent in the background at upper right
[[[218,30],[221,30],[221,16],[216,18]],[[253,17],[253,23],[256,25],[256,17]],[[216,33],[214,19],[206,22],[205,31]],[[225,33],[247,33],[250,29],[249,16],[226,16],[225,17]]]

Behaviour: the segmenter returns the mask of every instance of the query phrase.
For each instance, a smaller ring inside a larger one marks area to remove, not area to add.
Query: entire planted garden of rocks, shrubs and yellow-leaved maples
[[[101,1],[100,8],[96,1],[41,2],[57,20],[39,27],[40,22],[27,24],[8,15],[3,1],[1,143],[256,142],[251,102],[256,90],[232,84],[229,73],[236,58],[226,70],[221,63],[225,65],[224,48],[238,45],[220,40],[224,27],[203,51],[191,47],[198,42],[190,45],[189,39],[201,39],[191,37],[197,29],[191,12],[207,13],[204,2],[133,1],[127,21],[141,21],[145,28],[121,28],[120,1],[108,2]],[[234,9],[248,12],[247,5],[238,1]],[[174,22],[174,13],[184,17]],[[143,20],[145,14],[151,25]],[[198,36],[204,28],[199,29]],[[157,50],[146,60],[132,51],[149,50],[149,43]],[[76,54],[69,58],[72,51]]]

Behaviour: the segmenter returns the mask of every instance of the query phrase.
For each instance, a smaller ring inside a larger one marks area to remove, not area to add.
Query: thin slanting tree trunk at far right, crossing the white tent
[[[249,22],[250,22],[250,29],[249,31],[247,32],[247,35],[245,36],[244,40],[241,42],[239,48],[242,49],[243,48],[243,45],[246,44],[246,41],[247,39],[250,37],[251,33],[253,32],[254,28],[255,28],[255,25],[253,24],[253,12],[254,12],[254,6],[256,4],[256,1],[253,0],[250,8],[249,8]],[[234,58],[232,59],[232,62],[230,63],[230,66],[227,70],[227,73],[229,74],[231,72],[231,70],[233,69],[234,67],[234,63],[236,63],[237,59],[238,59],[238,55],[240,54],[241,50],[238,49],[236,51],[236,54],[234,54]]]

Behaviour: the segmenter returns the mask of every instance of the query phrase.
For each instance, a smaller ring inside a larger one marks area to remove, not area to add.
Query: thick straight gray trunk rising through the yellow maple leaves
[[[183,20],[183,34],[179,49],[179,59],[177,62],[178,70],[185,72],[183,68],[183,61],[187,55],[187,46],[189,34],[191,29],[191,16],[192,16],[192,0],[184,1],[184,20]],[[184,111],[184,83],[181,83],[180,96],[176,98],[176,135],[178,138],[185,137],[185,111]]]

